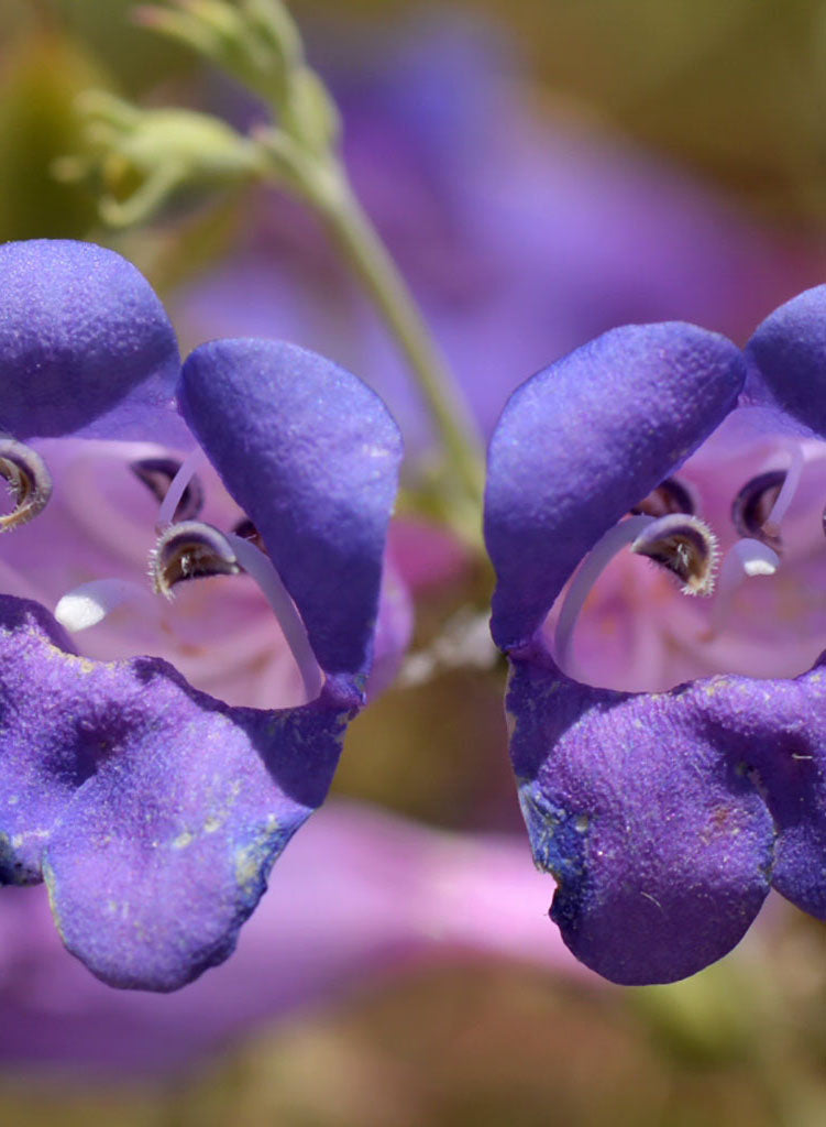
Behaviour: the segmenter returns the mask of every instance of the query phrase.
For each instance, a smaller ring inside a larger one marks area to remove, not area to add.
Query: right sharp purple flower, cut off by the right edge
[[[536,864],[558,882],[552,919],[574,953],[614,982],[668,982],[720,958],[770,888],[826,917],[823,657],[800,672],[799,647],[800,675],[784,680],[767,676],[766,650],[766,680],[723,666],[652,693],[570,675],[578,610],[623,543],[684,591],[709,591],[718,544],[692,477],[726,488],[719,468],[743,459],[749,442],[763,455],[773,444],[773,455],[728,498],[736,536],[694,649],[725,633],[749,585],[766,585],[763,616],[780,609],[785,588],[772,595],[771,585],[800,554],[792,526],[806,525],[809,545],[823,543],[823,492],[806,513],[799,503],[823,486],[812,438],[826,434],[824,372],[819,287],[776,310],[744,350],[682,322],[614,329],[523,384],[495,432],[491,629],[512,665],[523,814]],[[566,584],[550,642],[545,616]],[[669,607],[651,598],[649,613],[665,619]],[[696,620],[677,623],[687,636]],[[806,624],[798,629],[808,644]],[[771,633],[763,645],[773,645]],[[655,681],[661,662],[649,659]]]

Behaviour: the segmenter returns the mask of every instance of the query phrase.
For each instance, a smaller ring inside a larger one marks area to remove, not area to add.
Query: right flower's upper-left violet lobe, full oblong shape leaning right
[[[531,638],[602,533],[717,428],[745,372],[716,332],[631,325],[514,392],[490,443],[485,503],[500,648]]]

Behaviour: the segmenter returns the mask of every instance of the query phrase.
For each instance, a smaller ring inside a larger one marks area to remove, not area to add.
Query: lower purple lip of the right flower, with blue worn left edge
[[[541,649],[507,698],[536,864],[566,943],[613,982],[726,955],[770,887],[826,919],[826,671],[669,693],[570,681]]]

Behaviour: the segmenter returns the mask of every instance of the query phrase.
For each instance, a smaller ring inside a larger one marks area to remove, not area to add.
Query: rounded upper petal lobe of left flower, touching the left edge
[[[0,246],[0,427],[192,445],[174,403],[178,344],[143,275],[104,247]]]

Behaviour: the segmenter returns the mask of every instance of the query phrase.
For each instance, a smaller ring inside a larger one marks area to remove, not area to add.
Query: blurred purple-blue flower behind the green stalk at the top
[[[465,24],[399,42],[319,37],[348,169],[489,434],[529,372],[609,328],[681,317],[746,334],[819,261],[758,233],[669,165],[572,116],[540,123],[499,43]],[[176,320],[270,332],[357,371],[429,444],[394,344],[299,205],[259,197],[246,248]]]

